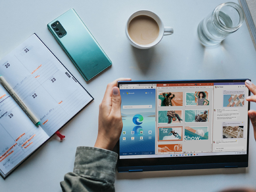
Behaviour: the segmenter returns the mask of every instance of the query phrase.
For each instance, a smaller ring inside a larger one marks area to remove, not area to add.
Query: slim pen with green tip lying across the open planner
[[[3,86],[8,90],[8,92],[12,95],[12,97],[16,100],[16,102],[20,105],[21,108],[26,112],[26,114],[29,116],[29,118],[35,123],[36,126],[40,125],[39,120],[35,117],[35,115],[29,110],[29,108],[23,103],[23,101],[20,99],[19,96],[15,93],[13,88],[9,85],[9,83],[3,78],[3,76],[0,76],[0,82],[3,84]]]

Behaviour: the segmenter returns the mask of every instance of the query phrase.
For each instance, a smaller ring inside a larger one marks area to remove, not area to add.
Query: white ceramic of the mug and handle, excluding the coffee
[[[146,44],[146,45],[137,44],[131,39],[131,37],[128,33],[129,23],[131,22],[131,20],[134,17],[137,17],[139,15],[147,15],[149,17],[152,17],[157,22],[157,24],[159,26],[159,35],[156,38],[156,40],[154,42],[152,42],[151,44]],[[129,43],[132,46],[134,46],[136,48],[139,48],[139,49],[149,49],[149,48],[154,47],[155,45],[157,45],[162,40],[163,35],[172,35],[173,34],[173,28],[172,27],[165,27],[163,25],[163,22],[160,19],[160,17],[158,17],[158,15],[155,14],[154,12],[151,12],[151,11],[148,11],[148,10],[139,10],[139,11],[134,12],[133,14],[131,14],[130,17],[128,18],[128,20],[126,22],[126,25],[125,25],[125,34],[126,34],[126,37],[128,38]]]

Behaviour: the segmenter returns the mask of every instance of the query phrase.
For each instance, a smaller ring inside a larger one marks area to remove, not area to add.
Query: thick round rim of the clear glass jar
[[[219,12],[221,10],[221,8],[223,8],[224,6],[230,6],[233,9],[236,9],[236,11],[238,12],[240,18],[239,18],[239,23],[234,26],[234,27],[228,27],[226,25],[224,25],[224,23],[221,22],[220,17],[219,17]],[[212,13],[212,19],[214,21],[216,21],[216,23],[218,23],[218,25],[220,26],[220,28],[226,32],[235,32],[237,29],[239,29],[241,27],[241,25],[243,24],[244,21],[244,12],[243,9],[241,8],[241,6],[239,6],[237,3],[233,3],[233,2],[227,2],[227,3],[222,3],[220,5],[218,5],[213,13]]]

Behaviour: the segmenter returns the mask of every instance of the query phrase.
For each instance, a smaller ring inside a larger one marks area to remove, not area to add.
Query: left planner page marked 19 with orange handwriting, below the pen
[[[6,175],[49,136],[0,85],[0,171]]]

